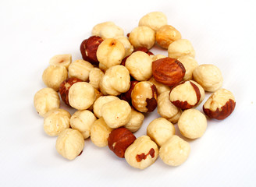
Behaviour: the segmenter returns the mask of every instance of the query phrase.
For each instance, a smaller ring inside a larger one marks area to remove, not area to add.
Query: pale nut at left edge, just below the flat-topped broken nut
[[[44,84],[55,91],[59,90],[59,85],[68,77],[66,67],[62,65],[49,65],[43,72]]]

